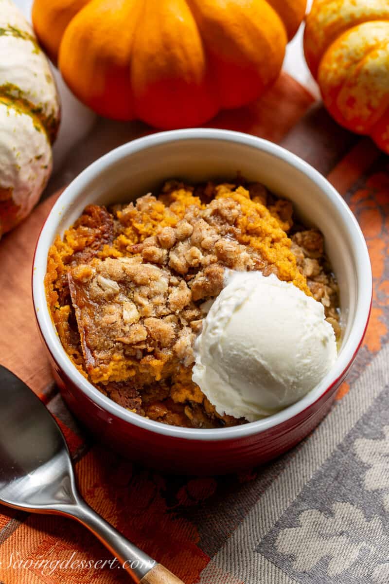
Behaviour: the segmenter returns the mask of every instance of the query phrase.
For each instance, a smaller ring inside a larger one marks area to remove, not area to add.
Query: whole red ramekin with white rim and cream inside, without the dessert
[[[337,275],[344,328],[338,359],[296,404],[258,422],[223,429],[167,426],[108,399],[73,366],[47,308],[47,253],[87,204],[130,201],[169,178],[233,180],[240,172],[290,199],[305,224],[324,234]],[[143,464],[189,474],[223,474],[264,463],[295,446],[330,409],[362,343],[372,302],[372,269],[355,217],[337,191],[309,164],[266,140],[226,130],[196,128],[149,135],[109,152],[61,194],[38,239],[33,265],[38,328],[55,380],[69,408],[101,440]]]

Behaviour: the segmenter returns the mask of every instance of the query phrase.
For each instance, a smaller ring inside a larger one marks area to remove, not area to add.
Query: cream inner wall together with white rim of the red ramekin
[[[230,429],[194,430],[196,433],[225,433],[227,430],[241,430],[255,425],[259,425],[258,431],[261,427],[264,429],[279,423],[320,397],[352,359],[362,338],[370,304],[370,262],[355,218],[331,185],[299,158],[258,138],[220,130],[182,130],[155,134],[110,152],[73,181],[55,204],[44,226],[34,265],[34,303],[39,308],[38,320],[49,347],[54,343],[55,353],[62,354],[64,350],[57,335],[52,335],[53,326],[43,294],[47,252],[55,235],[62,235],[89,203],[110,204],[131,201],[148,192],[157,194],[163,181],[169,178],[188,182],[211,178],[233,180],[238,172],[248,180],[260,181],[272,192],[293,201],[304,223],[318,227],[323,232],[325,249],[339,282],[344,334],[334,370],[300,402],[271,416],[271,419]],[[72,369],[73,377],[79,376],[79,384],[87,384],[78,371],[74,367]],[[110,402],[92,385],[87,385],[89,390],[92,388],[90,391]],[[117,404],[114,406],[120,408]],[[131,412],[125,414],[128,416]],[[183,432],[184,429],[180,430]]]

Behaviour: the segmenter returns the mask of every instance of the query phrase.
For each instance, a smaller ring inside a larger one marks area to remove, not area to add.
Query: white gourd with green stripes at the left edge
[[[0,237],[37,203],[52,169],[59,98],[33,30],[0,0]]]

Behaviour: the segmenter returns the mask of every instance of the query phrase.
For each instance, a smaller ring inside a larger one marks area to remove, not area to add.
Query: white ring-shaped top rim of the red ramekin
[[[199,139],[238,142],[249,147],[254,147],[258,150],[265,151],[276,158],[281,158],[287,164],[304,173],[326,194],[331,206],[337,209],[342,217],[344,227],[349,232],[352,245],[356,251],[355,267],[358,282],[358,296],[355,317],[349,338],[346,341],[345,346],[342,347],[342,352],[335,362],[334,367],[332,367],[327,376],[325,376],[324,379],[313,388],[313,390],[295,404],[268,416],[268,418],[228,428],[198,429],[169,426],[162,422],[155,422],[154,420],[143,418],[143,416],[123,408],[102,394],[96,387],[94,387],[94,385],[87,381],[82,374],[79,373],[62,345],[58,346],[59,339],[54,324],[52,323],[50,312],[48,311],[43,285],[45,266],[47,265],[48,246],[51,245],[55,235],[58,233],[58,217],[61,216],[59,213],[63,212],[64,207],[68,208],[78,199],[79,193],[85,189],[90,180],[99,175],[100,172],[105,171],[118,159],[127,157],[134,152],[145,150],[149,147],[154,147],[166,142]],[[38,266],[36,266],[37,259],[39,263]],[[103,157],[94,161],[91,165],[87,166],[87,168],[73,179],[68,187],[66,187],[48,214],[38,237],[34,253],[32,273],[33,304],[38,328],[40,329],[45,345],[47,346],[52,358],[76,387],[78,387],[95,404],[100,406],[100,408],[111,413],[111,415],[121,418],[125,422],[131,423],[132,425],[141,427],[156,434],[163,434],[170,437],[188,440],[216,441],[246,438],[253,434],[264,432],[272,427],[279,426],[288,420],[292,420],[304,410],[311,408],[318,399],[322,398],[324,394],[337,384],[351,365],[356,353],[358,352],[360,344],[362,343],[363,336],[365,335],[367,322],[369,321],[370,307],[372,304],[372,283],[372,267],[370,265],[369,252],[367,251],[365,238],[363,237],[359,224],[341,195],[323,175],[316,171],[316,169],[310,164],[303,161],[303,159],[268,140],[232,130],[218,130],[213,128],[170,130],[137,138],[136,140],[127,142],[127,144],[115,148]]]

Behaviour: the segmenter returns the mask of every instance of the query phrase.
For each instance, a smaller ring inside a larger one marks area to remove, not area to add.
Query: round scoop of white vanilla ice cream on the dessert
[[[220,415],[253,422],[302,398],[336,358],[320,302],[274,274],[226,270],[195,343],[192,379]]]

